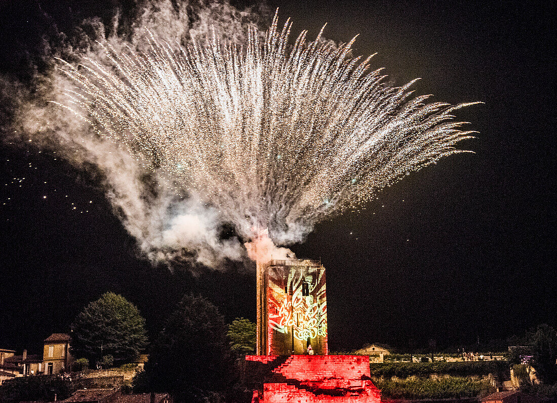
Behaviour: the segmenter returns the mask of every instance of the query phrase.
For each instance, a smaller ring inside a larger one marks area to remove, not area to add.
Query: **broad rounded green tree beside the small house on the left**
[[[112,356],[115,364],[134,361],[147,342],[145,319],[133,304],[114,292],[106,292],[87,305],[71,329],[72,354],[89,362],[100,362],[105,356]]]

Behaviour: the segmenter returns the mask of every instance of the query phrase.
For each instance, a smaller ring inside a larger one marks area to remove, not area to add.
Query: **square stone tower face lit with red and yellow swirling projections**
[[[271,260],[263,265],[266,353],[328,354],[325,268],[311,260]]]

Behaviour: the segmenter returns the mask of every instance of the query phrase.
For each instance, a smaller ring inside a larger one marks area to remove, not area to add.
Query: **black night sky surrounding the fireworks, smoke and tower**
[[[0,6],[0,68],[25,76],[26,52],[40,48],[49,24],[67,29],[91,14],[109,15],[120,2],[8,4]],[[328,269],[332,349],[429,339],[463,346],[543,322],[555,326],[554,7],[268,4],[292,16],[295,33],[309,28],[315,36],[325,22],[326,36],[338,41],[360,33],[356,53],[379,52],[374,66],[399,84],[421,77],[420,94],[485,102],[457,114],[480,132],[462,145],[475,154],[413,173],[363,213],[333,217],[292,247]],[[228,321],[255,319],[253,271],[192,277],[151,267],[136,257],[134,240],[91,175],[54,158],[30,147],[0,148],[0,347],[37,349],[108,290],[139,306],[152,335],[189,291],[208,297]]]

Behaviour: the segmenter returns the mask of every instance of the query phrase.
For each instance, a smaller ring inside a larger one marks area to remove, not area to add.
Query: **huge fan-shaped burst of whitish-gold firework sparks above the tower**
[[[174,51],[150,33],[147,54],[102,45],[113,68],[63,62],[76,88],[62,106],[242,235],[262,223],[278,243],[463,152],[454,146],[472,132],[451,114],[470,104],[389,87],[371,56],[350,56],[355,38],[335,48],[303,31],[292,47],[290,29],[275,15],[265,41],[251,29],[245,46],[214,35]]]

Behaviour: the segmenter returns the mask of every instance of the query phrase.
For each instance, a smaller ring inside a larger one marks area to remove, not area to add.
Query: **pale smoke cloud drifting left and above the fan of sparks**
[[[257,25],[266,18],[264,9],[240,11],[228,1],[173,4],[170,0],[149,0],[142,7],[130,27],[118,26],[117,13],[112,27],[105,27],[97,18],[84,21],[72,44],[62,41],[57,48],[45,49],[50,52],[49,61],[52,63],[54,56],[70,61],[89,58],[111,69],[96,41],[108,43],[117,50],[131,47],[145,51],[149,47],[148,29],[156,38],[175,47],[191,43],[192,38],[203,42],[213,32],[223,41],[240,42],[246,39],[248,25]],[[107,36],[106,32],[112,34]],[[117,36],[115,32],[124,34]],[[74,87],[58,69],[37,75],[36,81],[35,91],[22,90],[17,93],[17,99],[11,97],[17,111],[9,131],[11,136],[4,141],[32,138],[35,145],[56,152],[78,169],[93,169],[101,178],[116,215],[136,239],[144,256],[152,261],[187,259],[218,268],[227,259],[246,258],[241,240],[222,239],[223,222],[217,208],[180,194],[163,172],[145,169],[150,162],[136,160],[118,145],[96,135],[74,112],[47,102],[64,105],[62,94]],[[2,84],[4,97],[18,87],[7,79]]]

